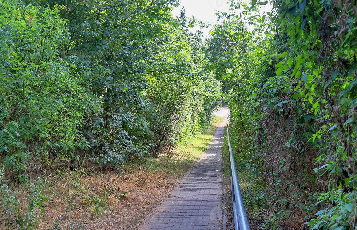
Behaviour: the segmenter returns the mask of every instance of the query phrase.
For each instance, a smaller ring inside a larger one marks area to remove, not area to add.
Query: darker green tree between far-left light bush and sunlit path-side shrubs
[[[91,91],[101,98],[102,113],[85,121],[89,147],[103,164],[142,157],[150,133],[146,114],[151,110],[144,95],[146,73],[157,68],[158,46],[174,26],[169,12],[174,1],[41,1],[68,20],[70,40],[62,58],[85,72]],[[89,72],[89,73],[88,73]]]

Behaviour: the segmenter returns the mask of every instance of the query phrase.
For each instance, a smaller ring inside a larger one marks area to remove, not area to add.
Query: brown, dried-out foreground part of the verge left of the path
[[[188,168],[191,163],[187,163]],[[101,173],[73,182],[52,181],[39,229],[136,229],[180,183],[166,168],[130,174]]]

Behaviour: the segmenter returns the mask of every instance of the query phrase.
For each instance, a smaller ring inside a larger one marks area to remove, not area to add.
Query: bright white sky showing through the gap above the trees
[[[245,2],[250,2],[250,0],[243,0]],[[174,16],[180,15],[180,10],[182,7],[186,9],[186,17],[191,18],[195,16],[196,19],[200,19],[202,21],[207,22],[217,22],[216,11],[227,12],[229,9],[230,1],[229,0],[181,0],[181,4],[179,7],[176,7],[172,14]],[[261,7],[261,14],[266,12],[271,12],[271,5],[268,3],[267,5]],[[222,20],[220,20],[221,22]],[[218,22],[218,23],[220,23]],[[191,28],[190,31],[196,31],[199,28]],[[202,32],[206,36],[211,28],[203,28]]]

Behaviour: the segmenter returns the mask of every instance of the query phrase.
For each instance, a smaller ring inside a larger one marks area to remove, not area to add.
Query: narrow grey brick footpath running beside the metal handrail
[[[227,117],[228,109],[224,106],[215,114]],[[144,220],[141,230],[221,228],[221,154],[225,122],[213,136],[207,151],[172,191],[171,197]]]

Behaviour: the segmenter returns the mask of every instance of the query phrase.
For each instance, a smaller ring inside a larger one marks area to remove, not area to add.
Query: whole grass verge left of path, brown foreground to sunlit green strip
[[[129,162],[116,171],[89,176],[61,175],[67,179],[47,172],[36,175],[32,182],[45,182],[42,193],[47,197],[45,214],[36,210],[37,229],[136,229],[205,152],[222,120],[216,119],[206,132],[179,145],[169,157]]]

